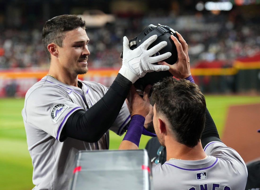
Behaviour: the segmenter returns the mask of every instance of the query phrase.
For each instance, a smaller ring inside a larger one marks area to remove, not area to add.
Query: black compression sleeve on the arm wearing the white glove
[[[118,116],[132,82],[120,73],[106,92],[87,111],[75,111],[66,121],[61,139],[71,137],[86,142],[97,142]]]

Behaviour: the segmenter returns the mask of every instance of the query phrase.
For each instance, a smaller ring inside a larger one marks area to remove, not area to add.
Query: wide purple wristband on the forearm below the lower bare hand
[[[145,123],[144,116],[134,115],[130,121],[129,127],[126,131],[123,140],[131,141],[132,143],[136,144],[136,146],[139,146],[144,123]]]

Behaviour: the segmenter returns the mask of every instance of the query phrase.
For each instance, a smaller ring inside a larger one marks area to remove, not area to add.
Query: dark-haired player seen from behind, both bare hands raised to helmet
[[[171,38],[178,50],[178,61],[169,65],[169,71],[180,80],[169,77],[154,84],[150,99],[151,86],[146,87],[144,98],[132,87],[128,97],[132,120],[119,149],[138,148],[151,102],[154,130],[167,151],[164,164],[152,164],[155,190],[244,190],[246,165],[235,150],[220,140],[205,98],[192,79],[187,44],[177,35],[180,42]]]

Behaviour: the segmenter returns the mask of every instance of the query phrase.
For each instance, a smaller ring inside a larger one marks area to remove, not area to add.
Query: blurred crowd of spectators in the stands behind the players
[[[239,15],[151,15],[145,18],[117,18],[114,24],[89,28],[89,67],[120,67],[123,36],[132,39],[149,24],[168,25],[189,45],[191,65],[198,60],[233,60],[260,51],[259,21]],[[0,69],[48,68],[49,60],[41,42],[41,29],[0,30]]]

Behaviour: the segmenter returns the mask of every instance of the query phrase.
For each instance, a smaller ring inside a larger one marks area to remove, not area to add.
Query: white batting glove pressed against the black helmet
[[[151,57],[167,45],[167,42],[163,41],[147,50],[149,45],[151,45],[156,39],[157,35],[153,35],[136,49],[131,50],[129,47],[129,41],[127,37],[124,36],[123,64],[119,73],[134,83],[138,78],[144,77],[147,72],[169,70],[170,67],[167,65],[152,64],[167,59],[172,55],[171,52],[167,52],[162,55]]]

